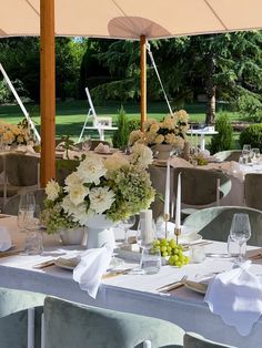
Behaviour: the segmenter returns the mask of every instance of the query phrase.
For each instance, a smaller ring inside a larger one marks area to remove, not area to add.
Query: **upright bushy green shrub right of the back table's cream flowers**
[[[220,151],[232,149],[233,143],[233,129],[226,114],[221,114],[215,123],[215,134],[210,144],[210,152],[214,154]]]

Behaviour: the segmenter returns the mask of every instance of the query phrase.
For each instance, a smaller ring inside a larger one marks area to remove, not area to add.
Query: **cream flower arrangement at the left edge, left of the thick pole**
[[[0,140],[6,145],[27,145],[33,140],[27,119],[18,124],[0,122]]]

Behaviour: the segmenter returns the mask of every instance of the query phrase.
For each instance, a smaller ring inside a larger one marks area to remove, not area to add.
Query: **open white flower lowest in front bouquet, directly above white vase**
[[[102,214],[109,209],[114,202],[114,193],[109,187],[94,187],[90,191],[90,209]]]

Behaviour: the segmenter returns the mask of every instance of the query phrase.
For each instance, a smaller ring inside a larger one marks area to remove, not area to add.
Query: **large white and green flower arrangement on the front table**
[[[48,183],[42,213],[47,232],[88,226],[89,219],[100,214],[118,222],[148,208],[154,198],[145,170],[150,163],[152,152],[142,144],[134,145],[129,157],[88,154],[66,178],[64,187],[54,181]]]

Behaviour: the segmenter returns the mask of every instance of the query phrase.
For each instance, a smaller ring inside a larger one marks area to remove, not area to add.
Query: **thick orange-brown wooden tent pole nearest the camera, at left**
[[[40,182],[56,178],[54,0],[40,0]]]

